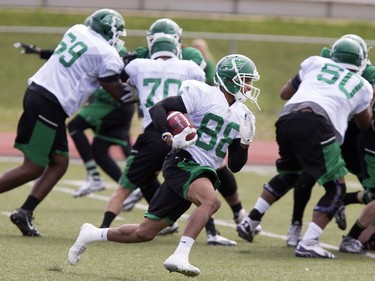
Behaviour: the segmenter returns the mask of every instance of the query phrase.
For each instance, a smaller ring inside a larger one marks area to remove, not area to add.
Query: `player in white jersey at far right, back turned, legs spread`
[[[270,206],[291,188],[306,184],[301,172],[325,189],[303,238],[298,257],[335,258],[319,245],[324,228],[342,206],[347,173],[341,156],[349,117],[366,130],[372,119],[373,88],[356,74],[365,55],[360,44],[341,38],[332,47],[330,59],[313,56],[304,60],[298,74],[282,89],[288,102],[276,122],[280,158],[278,174],[264,185],[249,216],[237,225],[243,239],[252,242],[255,227]]]

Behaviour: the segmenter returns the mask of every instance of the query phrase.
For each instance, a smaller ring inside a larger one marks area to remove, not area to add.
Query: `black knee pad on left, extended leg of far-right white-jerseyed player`
[[[277,200],[283,197],[298,180],[297,174],[276,175],[263,188],[270,192]]]

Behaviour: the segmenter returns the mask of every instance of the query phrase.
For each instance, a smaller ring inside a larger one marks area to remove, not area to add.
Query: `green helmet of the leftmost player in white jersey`
[[[116,44],[119,36],[126,36],[124,18],[115,10],[98,10],[85,22],[112,46]]]

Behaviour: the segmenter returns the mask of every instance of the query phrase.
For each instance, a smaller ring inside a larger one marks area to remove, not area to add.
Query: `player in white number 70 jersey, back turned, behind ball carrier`
[[[101,228],[111,225],[121,211],[122,202],[135,189],[139,187],[146,201],[150,203],[160,186],[158,174],[162,169],[164,158],[171,148],[159,137],[156,137],[159,132],[151,122],[149,109],[167,96],[177,95],[184,80],[205,80],[204,71],[193,61],[180,60],[180,53],[181,46],[175,37],[158,33],[153,36],[150,43],[150,57],[155,60],[138,58],[129,62],[125,67],[129,83],[134,85],[138,92],[140,110],[143,112],[143,133],[138,136],[132,154],[127,159],[120,186],[108,202]],[[163,59],[160,59],[161,55],[164,55]],[[142,69],[143,71],[141,71]],[[173,71],[168,71],[169,69]],[[120,202],[121,204],[119,204]],[[176,224],[172,224],[161,234],[165,235],[176,231]],[[218,237],[214,239],[225,239],[216,233],[215,235]],[[229,240],[229,242],[231,241]]]

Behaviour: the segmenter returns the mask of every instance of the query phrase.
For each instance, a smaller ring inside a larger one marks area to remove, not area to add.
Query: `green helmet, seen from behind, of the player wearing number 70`
[[[180,43],[173,37],[165,34],[155,34],[150,47],[151,59],[156,59],[160,56],[180,57]]]

